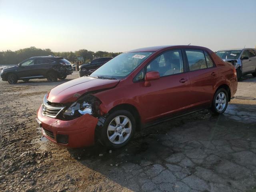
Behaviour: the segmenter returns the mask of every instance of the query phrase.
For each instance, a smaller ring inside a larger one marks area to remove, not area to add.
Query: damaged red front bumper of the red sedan
[[[65,121],[42,114],[39,108],[36,118],[43,135],[50,141],[67,148],[80,148],[94,144],[95,128],[98,118],[85,114],[76,119]]]

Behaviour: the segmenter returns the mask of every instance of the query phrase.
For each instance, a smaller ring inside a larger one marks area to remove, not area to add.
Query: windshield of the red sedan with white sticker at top
[[[122,53],[95,70],[90,77],[123,79],[153,52]]]

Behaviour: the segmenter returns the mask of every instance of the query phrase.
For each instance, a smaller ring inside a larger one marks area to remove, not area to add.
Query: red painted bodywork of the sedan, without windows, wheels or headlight
[[[166,50],[182,48],[205,50],[212,57],[215,66],[163,76],[158,80],[149,81],[149,84],[145,84],[144,81],[133,82],[134,77],[156,56]],[[102,102],[100,104],[102,116],[120,104],[129,104],[138,111],[141,124],[146,124],[189,109],[210,106],[219,86],[227,85],[230,88],[231,97],[236,93],[238,83],[234,66],[222,61],[208,48],[158,46],[130,52],[143,51],[153,53],[126,78],[122,80],[78,78],[53,88],[48,95],[48,101],[65,104],[76,101],[87,92],[101,90],[93,95]],[[97,118],[86,114],[74,120],[63,121],[43,116],[41,110],[40,108],[38,111],[38,119],[42,122],[42,127],[54,132],[54,135],[68,134],[70,140],[67,147],[88,146],[94,143]],[[52,141],[56,142],[56,140]]]

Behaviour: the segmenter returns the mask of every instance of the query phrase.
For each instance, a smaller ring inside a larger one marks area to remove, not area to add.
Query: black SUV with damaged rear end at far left
[[[68,60],[57,56],[31,57],[14,67],[3,69],[1,78],[10,84],[17,83],[18,80],[28,82],[30,79],[44,79],[57,81],[65,79],[72,74],[73,70]]]

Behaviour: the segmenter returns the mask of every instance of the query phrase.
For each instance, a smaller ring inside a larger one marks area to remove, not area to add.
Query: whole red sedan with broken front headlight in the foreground
[[[205,108],[222,114],[236,90],[236,69],[208,48],[140,48],[53,88],[37,120],[62,146],[119,148],[141,128]]]

